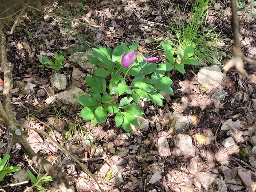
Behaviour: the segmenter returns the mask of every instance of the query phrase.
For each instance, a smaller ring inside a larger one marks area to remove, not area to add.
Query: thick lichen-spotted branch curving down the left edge
[[[73,192],[68,182],[70,178],[65,172],[62,172],[61,168],[51,165],[50,162],[45,160],[43,157],[37,155],[27,142],[27,135],[24,131],[16,126],[17,122],[12,112],[11,104],[11,85],[12,85],[12,67],[13,64],[9,63],[5,51],[5,35],[2,31],[3,25],[0,24],[0,67],[4,71],[4,89],[3,89],[3,104],[0,101],[0,116],[4,122],[8,125],[8,128],[12,133],[12,142],[8,145],[11,149],[12,145],[19,143],[24,153],[36,164],[40,165],[54,180],[56,187],[61,189],[63,192]]]

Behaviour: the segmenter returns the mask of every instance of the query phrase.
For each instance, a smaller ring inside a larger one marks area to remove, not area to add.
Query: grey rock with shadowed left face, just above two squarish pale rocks
[[[168,121],[169,133],[173,135],[189,129],[189,120],[186,116],[170,113]]]

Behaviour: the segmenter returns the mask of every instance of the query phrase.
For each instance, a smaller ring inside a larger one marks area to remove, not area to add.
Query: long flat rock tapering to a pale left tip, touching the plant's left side
[[[45,102],[47,105],[50,105],[52,102],[56,102],[59,99],[63,99],[68,103],[75,103],[76,100],[81,96],[87,94],[83,90],[79,89],[78,87],[72,87],[70,90],[63,91],[62,93],[55,94],[47,99]]]

